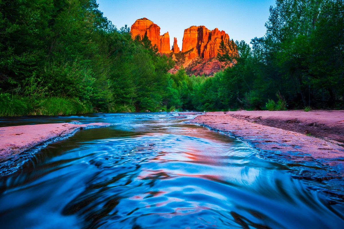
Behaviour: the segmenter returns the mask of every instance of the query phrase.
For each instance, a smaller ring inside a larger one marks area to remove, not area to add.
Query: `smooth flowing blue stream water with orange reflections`
[[[244,142],[172,114],[1,119],[109,122],[0,177],[0,228],[344,228],[344,207]]]

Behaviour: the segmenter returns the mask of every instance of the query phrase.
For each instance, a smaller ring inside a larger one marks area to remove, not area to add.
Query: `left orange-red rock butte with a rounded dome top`
[[[158,51],[161,53],[170,53],[170,35],[165,33],[160,36],[160,27],[148,20],[146,17],[138,19],[130,28],[131,37],[135,38],[140,35],[141,38],[146,34],[152,42],[152,46],[157,45]]]

